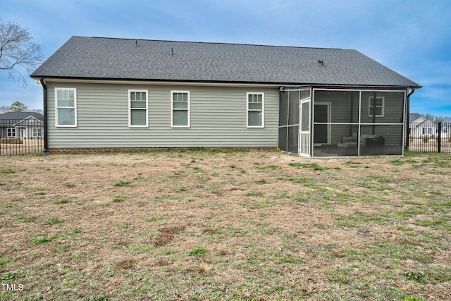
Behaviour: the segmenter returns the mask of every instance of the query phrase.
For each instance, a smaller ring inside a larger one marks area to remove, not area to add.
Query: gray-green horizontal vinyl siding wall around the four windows
[[[77,89],[77,127],[55,126],[54,88]],[[129,128],[128,90],[147,90],[149,127]],[[171,90],[190,91],[190,128],[171,128]],[[264,92],[264,128],[247,128],[246,92]],[[48,82],[48,147],[277,147],[278,89]]]

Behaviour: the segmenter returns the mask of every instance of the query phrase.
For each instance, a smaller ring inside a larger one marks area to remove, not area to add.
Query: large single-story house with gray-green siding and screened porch
[[[31,77],[49,151],[401,155],[421,87],[356,50],[102,37],[71,37]]]

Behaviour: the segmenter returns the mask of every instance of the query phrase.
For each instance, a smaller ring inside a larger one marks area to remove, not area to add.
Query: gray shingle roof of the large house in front
[[[420,87],[356,50],[76,36],[31,76]]]

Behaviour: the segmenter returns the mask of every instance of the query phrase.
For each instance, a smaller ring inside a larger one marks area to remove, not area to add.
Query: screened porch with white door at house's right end
[[[403,154],[407,90],[282,87],[278,147],[301,156]]]

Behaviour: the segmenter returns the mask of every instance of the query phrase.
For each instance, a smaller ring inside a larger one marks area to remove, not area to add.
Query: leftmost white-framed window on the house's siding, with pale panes
[[[55,126],[77,126],[77,90],[55,88]]]

